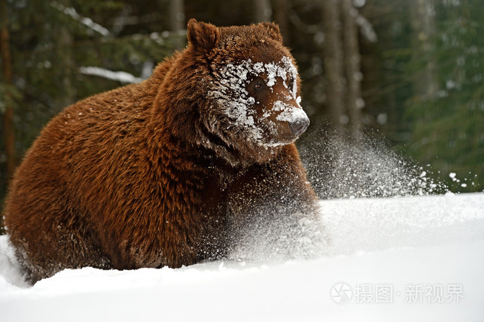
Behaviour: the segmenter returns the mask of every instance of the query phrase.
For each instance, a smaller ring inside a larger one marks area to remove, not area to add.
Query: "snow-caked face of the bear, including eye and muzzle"
[[[279,61],[226,64],[214,72],[209,95],[227,117],[224,123],[230,124],[224,132],[236,133],[259,148],[290,144],[309,124],[299,105],[297,69],[286,56]]]

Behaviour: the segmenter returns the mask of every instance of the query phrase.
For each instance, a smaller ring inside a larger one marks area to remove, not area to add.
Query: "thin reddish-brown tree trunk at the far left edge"
[[[7,180],[15,171],[15,129],[13,124],[12,96],[8,86],[12,85],[12,60],[10,59],[10,35],[8,33],[8,13],[6,0],[0,0],[0,48],[2,73],[6,86],[6,111],[3,114],[3,140],[7,157]],[[10,106],[9,106],[10,105]]]

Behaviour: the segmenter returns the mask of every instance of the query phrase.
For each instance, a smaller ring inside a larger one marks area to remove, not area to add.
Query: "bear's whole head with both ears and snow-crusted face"
[[[274,23],[216,27],[188,23],[205,102],[198,106],[200,144],[233,165],[268,162],[306,131],[300,79]]]

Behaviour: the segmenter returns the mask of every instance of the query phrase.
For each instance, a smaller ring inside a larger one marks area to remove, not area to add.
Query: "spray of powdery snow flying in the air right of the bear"
[[[431,178],[431,165],[420,167],[392,151],[384,140],[360,135],[356,140],[319,131],[299,149],[319,198],[429,196],[448,192]]]

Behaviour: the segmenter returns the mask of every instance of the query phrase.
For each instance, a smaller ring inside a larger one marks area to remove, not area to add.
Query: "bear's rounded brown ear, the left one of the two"
[[[212,23],[190,19],[187,25],[188,44],[201,53],[212,50],[218,41],[218,29]]]

